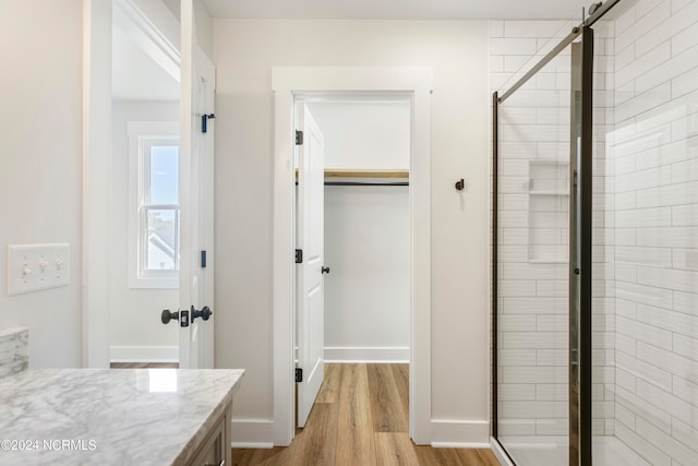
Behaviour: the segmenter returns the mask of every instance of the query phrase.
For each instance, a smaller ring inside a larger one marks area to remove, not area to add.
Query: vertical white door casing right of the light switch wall
[[[83,0],[82,363],[109,367],[111,2]]]

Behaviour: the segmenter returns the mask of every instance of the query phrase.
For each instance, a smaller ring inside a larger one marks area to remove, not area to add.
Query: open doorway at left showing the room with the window
[[[178,13],[158,0],[112,3],[112,368],[179,362],[178,325],[164,325],[161,320],[163,310],[177,310],[179,297]]]

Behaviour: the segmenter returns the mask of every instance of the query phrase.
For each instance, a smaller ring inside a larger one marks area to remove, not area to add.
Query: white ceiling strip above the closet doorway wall
[[[214,17],[308,20],[561,20],[591,0],[204,0]]]

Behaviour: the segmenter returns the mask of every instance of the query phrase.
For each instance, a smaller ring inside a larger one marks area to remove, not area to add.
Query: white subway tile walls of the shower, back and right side
[[[571,25],[492,21],[492,91]],[[594,33],[593,433],[698,464],[698,1],[637,0]],[[566,444],[569,99],[566,51],[500,106],[498,427],[518,446]]]

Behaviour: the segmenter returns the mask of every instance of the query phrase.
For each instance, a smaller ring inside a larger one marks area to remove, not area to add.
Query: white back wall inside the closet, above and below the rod
[[[409,103],[308,106],[325,168],[409,168]],[[325,187],[327,360],[409,360],[409,228],[408,187]]]

